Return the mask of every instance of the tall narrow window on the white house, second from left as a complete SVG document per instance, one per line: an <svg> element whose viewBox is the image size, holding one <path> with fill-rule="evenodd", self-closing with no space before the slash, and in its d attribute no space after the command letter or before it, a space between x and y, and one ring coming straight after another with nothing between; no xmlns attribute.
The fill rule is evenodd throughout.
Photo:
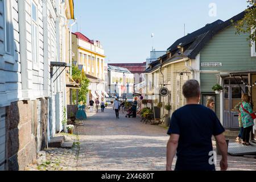
<svg viewBox="0 0 256 182"><path fill-rule="evenodd" d="M32 1L31 3L32 18L32 59L34 63L38 63L38 7Z"/></svg>

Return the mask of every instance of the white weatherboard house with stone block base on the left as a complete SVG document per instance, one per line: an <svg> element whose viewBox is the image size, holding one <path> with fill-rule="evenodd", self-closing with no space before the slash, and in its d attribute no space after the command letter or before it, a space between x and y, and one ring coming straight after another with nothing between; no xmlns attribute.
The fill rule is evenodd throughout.
<svg viewBox="0 0 256 182"><path fill-rule="evenodd" d="M50 78L50 66L65 62L67 3L73 9L73 1L0 0L0 170L24 169L63 130L64 73L53 82L61 69Z"/></svg>

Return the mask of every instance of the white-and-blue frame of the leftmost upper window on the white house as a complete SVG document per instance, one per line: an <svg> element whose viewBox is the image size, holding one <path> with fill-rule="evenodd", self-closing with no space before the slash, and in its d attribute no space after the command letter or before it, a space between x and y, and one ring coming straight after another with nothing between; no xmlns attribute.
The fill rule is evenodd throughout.
<svg viewBox="0 0 256 182"><path fill-rule="evenodd" d="M9 0L3 0L3 11L4 11L4 28L5 28L5 52L3 55L3 59L7 63L14 64L15 63L15 47L14 47L14 30L13 30L13 5ZM9 37L7 37L7 22L9 23ZM7 42L10 43L10 52L7 52Z"/></svg>

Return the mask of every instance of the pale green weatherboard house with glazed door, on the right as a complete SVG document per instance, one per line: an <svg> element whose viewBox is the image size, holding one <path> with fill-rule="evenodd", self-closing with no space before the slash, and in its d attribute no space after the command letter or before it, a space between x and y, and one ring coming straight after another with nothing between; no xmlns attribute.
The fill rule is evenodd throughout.
<svg viewBox="0 0 256 182"><path fill-rule="evenodd" d="M241 101L242 93L249 93L256 110L256 52L249 34L236 34L231 20L236 22L242 12L220 24L212 32L210 40L200 51L201 102L208 98L216 101L216 113L226 129L238 129L238 112L234 107ZM214 93L213 85L220 84L223 90Z"/></svg>

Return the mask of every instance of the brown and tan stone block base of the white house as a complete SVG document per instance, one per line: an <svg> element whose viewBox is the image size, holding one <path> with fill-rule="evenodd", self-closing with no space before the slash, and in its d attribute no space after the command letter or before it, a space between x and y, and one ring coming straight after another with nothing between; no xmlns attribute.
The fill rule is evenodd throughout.
<svg viewBox="0 0 256 182"><path fill-rule="evenodd" d="M6 157L9 171L23 170L27 164L34 163L38 148L42 150L46 147L48 101L45 98L40 101L39 114L36 107L38 100L13 102L6 107Z"/></svg>

